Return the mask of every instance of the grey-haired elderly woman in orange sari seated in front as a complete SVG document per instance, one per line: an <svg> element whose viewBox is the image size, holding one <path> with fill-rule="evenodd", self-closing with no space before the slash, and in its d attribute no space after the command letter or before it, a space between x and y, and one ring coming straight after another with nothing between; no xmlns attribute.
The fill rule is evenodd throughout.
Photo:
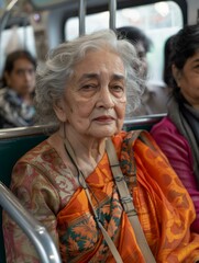
<svg viewBox="0 0 199 263"><path fill-rule="evenodd" d="M63 262L199 261L187 191L147 133L121 132L137 70L133 46L102 31L62 44L37 72L40 117L58 130L18 161L11 188ZM38 262L5 214L3 232L8 263Z"/></svg>

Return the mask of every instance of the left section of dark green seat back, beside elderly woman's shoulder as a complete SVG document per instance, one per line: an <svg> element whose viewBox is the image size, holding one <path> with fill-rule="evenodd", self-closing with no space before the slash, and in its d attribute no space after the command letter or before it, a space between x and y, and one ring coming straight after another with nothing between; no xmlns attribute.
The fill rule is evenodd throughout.
<svg viewBox="0 0 199 263"><path fill-rule="evenodd" d="M0 132L0 181L5 186L10 185L11 171L18 159L46 137L41 127L2 129ZM1 207L0 226L0 263L5 263Z"/></svg>

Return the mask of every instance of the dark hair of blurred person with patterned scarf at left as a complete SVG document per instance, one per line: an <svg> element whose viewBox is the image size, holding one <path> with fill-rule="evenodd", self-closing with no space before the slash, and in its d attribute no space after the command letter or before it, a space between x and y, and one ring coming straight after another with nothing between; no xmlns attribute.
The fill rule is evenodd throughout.
<svg viewBox="0 0 199 263"><path fill-rule="evenodd" d="M14 62L20 58L29 60L34 66L34 69L36 69L36 59L31 55L30 52L19 49L10 53L5 58L4 68L2 71L2 87L7 85L4 73L11 73L14 68Z"/></svg>

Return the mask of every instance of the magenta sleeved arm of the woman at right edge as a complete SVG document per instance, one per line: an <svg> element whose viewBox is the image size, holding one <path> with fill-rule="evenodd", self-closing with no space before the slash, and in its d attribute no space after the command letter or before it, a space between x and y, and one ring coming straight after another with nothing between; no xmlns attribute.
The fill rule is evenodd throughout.
<svg viewBox="0 0 199 263"><path fill-rule="evenodd" d="M191 149L176 128L157 125L152 128L151 134L191 196L197 214L191 227L199 232L199 187L192 171Z"/></svg>

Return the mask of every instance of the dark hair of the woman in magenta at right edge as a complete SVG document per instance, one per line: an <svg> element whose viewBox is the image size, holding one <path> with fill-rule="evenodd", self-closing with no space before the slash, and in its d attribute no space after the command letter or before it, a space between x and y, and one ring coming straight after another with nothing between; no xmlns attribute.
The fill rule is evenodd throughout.
<svg viewBox="0 0 199 263"><path fill-rule="evenodd" d="M174 37L172 43L170 62L183 70L186 61L199 52L199 24L185 25ZM179 88L172 76L170 87L173 95L179 101Z"/></svg>

